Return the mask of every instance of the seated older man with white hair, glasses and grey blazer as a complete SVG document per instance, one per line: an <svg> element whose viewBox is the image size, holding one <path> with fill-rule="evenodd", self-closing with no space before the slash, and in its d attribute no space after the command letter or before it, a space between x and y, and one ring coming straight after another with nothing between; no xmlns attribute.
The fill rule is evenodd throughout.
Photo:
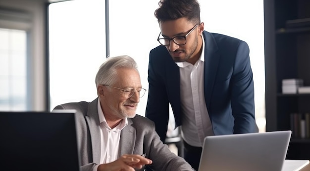
<svg viewBox="0 0 310 171"><path fill-rule="evenodd" d="M155 132L155 124L136 115L142 88L136 62L129 56L108 58L96 75L98 98L65 103L75 109L82 171L192 171ZM142 156L146 154L146 156Z"/></svg>

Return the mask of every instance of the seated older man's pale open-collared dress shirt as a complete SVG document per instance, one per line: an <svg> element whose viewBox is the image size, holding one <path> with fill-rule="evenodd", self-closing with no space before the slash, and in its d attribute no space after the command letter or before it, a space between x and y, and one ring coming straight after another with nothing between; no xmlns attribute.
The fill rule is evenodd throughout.
<svg viewBox="0 0 310 171"><path fill-rule="evenodd" d="M119 140L120 133L126 125L128 125L127 118L123 119L115 128L111 129L105 120L103 111L100 105L100 99L98 99L98 115L101 129L101 157L100 164L110 163L118 159L119 156ZM98 165L93 171L97 171Z"/></svg>

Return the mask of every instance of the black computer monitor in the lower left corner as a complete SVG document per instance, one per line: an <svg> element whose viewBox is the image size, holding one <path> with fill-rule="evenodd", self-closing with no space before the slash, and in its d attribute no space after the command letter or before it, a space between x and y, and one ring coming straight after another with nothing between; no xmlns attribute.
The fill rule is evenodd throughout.
<svg viewBox="0 0 310 171"><path fill-rule="evenodd" d="M79 168L74 112L0 111L0 170Z"/></svg>

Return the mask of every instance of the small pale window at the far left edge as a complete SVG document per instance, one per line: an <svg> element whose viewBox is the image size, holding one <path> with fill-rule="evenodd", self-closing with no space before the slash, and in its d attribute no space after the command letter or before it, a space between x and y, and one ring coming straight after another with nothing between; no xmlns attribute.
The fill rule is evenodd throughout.
<svg viewBox="0 0 310 171"><path fill-rule="evenodd" d="M27 33L0 29L0 110L27 109Z"/></svg>

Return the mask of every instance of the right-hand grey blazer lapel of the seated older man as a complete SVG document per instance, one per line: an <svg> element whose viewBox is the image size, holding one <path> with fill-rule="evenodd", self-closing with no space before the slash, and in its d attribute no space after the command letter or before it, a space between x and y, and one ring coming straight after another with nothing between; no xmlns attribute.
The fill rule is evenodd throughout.
<svg viewBox="0 0 310 171"><path fill-rule="evenodd" d="M128 125L120 133L120 155L134 152L136 129L131 125L132 120L128 118Z"/></svg>

